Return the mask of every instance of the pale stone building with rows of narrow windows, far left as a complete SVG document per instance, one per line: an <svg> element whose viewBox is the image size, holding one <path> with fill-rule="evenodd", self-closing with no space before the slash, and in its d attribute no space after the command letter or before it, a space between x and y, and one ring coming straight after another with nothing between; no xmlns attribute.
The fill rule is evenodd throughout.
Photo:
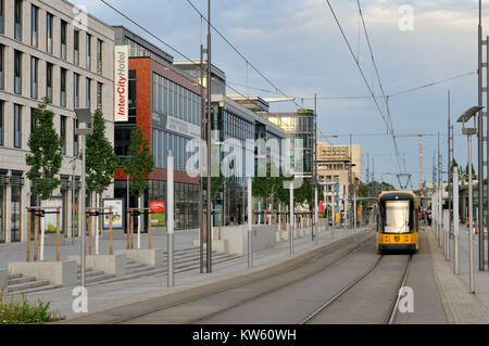
<svg viewBox="0 0 489 346"><path fill-rule="evenodd" d="M64 140L62 182L54 192L62 203L61 231L78 234L71 217L72 180L80 176L74 108L101 108L113 141L113 49L112 28L67 1L0 0L0 243L27 238L26 207L37 197L25 156L33 110L43 97L52 100ZM74 210L77 201L76 189Z"/></svg>

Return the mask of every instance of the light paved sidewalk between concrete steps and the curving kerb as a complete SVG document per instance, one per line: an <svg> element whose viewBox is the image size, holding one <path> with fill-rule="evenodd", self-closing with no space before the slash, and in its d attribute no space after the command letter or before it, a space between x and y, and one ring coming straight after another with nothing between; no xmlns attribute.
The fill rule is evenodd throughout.
<svg viewBox="0 0 489 346"><path fill-rule="evenodd" d="M366 228L358 228L355 233L362 232ZM335 241L353 233L353 230L335 229ZM311 241L310 234L302 239L296 239L293 257L329 244L333 238L329 230L319 233L319 245L315 245L315 242ZM269 249L253 254L253 268L251 269L248 268L248 259L247 256L244 256L236 260L213 266L213 272L209 274L201 274L199 269L176 273L174 287L167 287L167 279L164 274L88 286L88 312L99 312L110 308L145 302L153 297L197 287L230 277L242 275L290 258L289 242L283 241ZM27 297L29 299L39 298L43 302L50 302L52 309L58 310L61 315L70 319L80 317L80 315L76 315L72 310L74 299L72 290L72 287L65 287L45 291L41 293L27 294Z"/></svg>

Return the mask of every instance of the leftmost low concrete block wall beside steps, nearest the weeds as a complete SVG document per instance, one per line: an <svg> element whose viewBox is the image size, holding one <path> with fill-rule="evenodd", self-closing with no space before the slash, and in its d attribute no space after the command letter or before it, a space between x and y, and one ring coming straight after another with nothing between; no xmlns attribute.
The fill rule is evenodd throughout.
<svg viewBox="0 0 489 346"><path fill-rule="evenodd" d="M48 280L51 284L62 286L76 284L75 260L10 262L9 272L36 280Z"/></svg>

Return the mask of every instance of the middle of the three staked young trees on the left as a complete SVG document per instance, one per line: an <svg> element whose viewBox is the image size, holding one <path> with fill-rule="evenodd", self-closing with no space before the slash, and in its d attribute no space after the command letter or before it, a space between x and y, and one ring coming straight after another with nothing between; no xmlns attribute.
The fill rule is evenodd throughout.
<svg viewBox="0 0 489 346"><path fill-rule="evenodd" d="M93 114L93 133L87 136L86 166L88 191L96 192L99 206L102 205L102 193L112 183L118 156L105 138L105 121L103 114L97 110Z"/></svg>

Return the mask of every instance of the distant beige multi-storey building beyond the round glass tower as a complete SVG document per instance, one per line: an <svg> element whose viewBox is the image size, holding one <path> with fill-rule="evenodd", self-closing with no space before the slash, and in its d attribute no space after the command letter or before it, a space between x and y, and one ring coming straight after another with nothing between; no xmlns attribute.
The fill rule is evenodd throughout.
<svg viewBox="0 0 489 346"><path fill-rule="evenodd" d="M359 144L331 145L327 142L316 144L317 182L323 187L327 205L331 204L335 195L336 213L340 213L341 216L344 216L346 209L348 210L344 200L348 200L349 189L352 189L352 195L354 193L358 195L362 171L360 150Z"/></svg>

